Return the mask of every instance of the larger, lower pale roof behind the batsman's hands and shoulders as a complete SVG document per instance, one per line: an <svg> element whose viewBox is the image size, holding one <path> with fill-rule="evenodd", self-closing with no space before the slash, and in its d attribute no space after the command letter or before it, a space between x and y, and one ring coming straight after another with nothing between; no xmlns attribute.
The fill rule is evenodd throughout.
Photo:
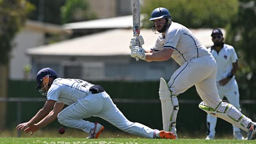
<svg viewBox="0 0 256 144"><path fill-rule="evenodd" d="M198 39L206 46L213 45L211 41L212 29L191 29ZM224 35L225 31L222 29ZM158 35L152 30L141 29L145 44L143 48L149 50ZM56 42L53 44L28 48L28 55L70 55L70 56L110 56L130 55L130 39L133 37L132 29L115 29L94 33L74 39Z"/></svg>

